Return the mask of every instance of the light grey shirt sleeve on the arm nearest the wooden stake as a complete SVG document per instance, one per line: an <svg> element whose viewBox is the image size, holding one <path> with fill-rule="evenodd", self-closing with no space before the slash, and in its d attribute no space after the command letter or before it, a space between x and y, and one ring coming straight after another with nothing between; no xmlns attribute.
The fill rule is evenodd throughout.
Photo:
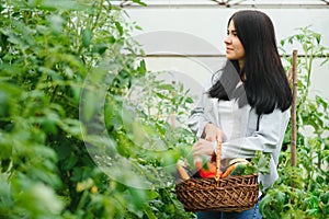
<svg viewBox="0 0 329 219"><path fill-rule="evenodd" d="M290 119L290 111L276 108L259 118L259 129L245 138L222 145L222 158L252 158L256 151L277 154ZM280 147L280 148L279 148ZM277 158L274 158L277 160Z"/></svg>

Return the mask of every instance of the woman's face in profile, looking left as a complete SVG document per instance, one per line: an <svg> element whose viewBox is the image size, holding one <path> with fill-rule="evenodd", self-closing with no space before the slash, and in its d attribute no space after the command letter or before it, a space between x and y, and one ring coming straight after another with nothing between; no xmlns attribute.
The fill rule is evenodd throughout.
<svg viewBox="0 0 329 219"><path fill-rule="evenodd" d="M238 60L241 68L245 60L245 48L237 36L232 20L229 22L227 37L225 38L224 43L226 45L226 58L229 60Z"/></svg>

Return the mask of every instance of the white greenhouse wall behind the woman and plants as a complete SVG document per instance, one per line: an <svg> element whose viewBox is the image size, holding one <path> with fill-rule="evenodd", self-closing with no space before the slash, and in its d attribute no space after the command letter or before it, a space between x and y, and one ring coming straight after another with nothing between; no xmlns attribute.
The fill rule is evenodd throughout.
<svg viewBox="0 0 329 219"><path fill-rule="evenodd" d="M229 16L238 10L253 9L265 12L273 21L277 44L298 33L298 27L310 26L321 34L321 44L329 47L329 7L239 7L214 5L127 7L128 19L141 31L134 32L146 51L150 71L166 71L168 80L179 80L191 89L200 91L203 81L223 65L225 60L224 38ZM287 55L297 45L285 47ZM282 54L282 53L281 53ZM321 95L329 100L329 62L320 65L325 57L315 59L309 96Z"/></svg>

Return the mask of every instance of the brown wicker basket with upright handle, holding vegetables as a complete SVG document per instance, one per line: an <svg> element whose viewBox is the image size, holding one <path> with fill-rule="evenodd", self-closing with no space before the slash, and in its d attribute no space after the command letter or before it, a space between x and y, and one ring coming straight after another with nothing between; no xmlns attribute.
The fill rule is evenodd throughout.
<svg viewBox="0 0 329 219"><path fill-rule="evenodd" d="M189 178L175 186L178 199L186 211L242 211L258 201L258 175L219 177L222 142L217 143L216 176Z"/></svg>

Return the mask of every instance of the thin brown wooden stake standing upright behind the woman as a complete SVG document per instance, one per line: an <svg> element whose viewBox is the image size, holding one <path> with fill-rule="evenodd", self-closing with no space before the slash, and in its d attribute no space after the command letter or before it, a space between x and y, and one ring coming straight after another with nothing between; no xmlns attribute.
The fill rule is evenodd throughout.
<svg viewBox="0 0 329 219"><path fill-rule="evenodd" d="M292 103L292 166L296 166L296 99L297 99L297 50L293 50L293 103Z"/></svg>

